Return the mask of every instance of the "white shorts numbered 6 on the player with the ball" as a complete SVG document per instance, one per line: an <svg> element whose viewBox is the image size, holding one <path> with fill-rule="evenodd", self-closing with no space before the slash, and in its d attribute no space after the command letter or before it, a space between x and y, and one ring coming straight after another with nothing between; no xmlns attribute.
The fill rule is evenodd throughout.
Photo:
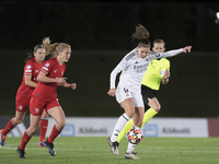
<svg viewBox="0 0 219 164"><path fill-rule="evenodd" d="M134 99L135 107L145 107L140 89L118 85L116 89L116 101L120 104L127 98Z"/></svg>

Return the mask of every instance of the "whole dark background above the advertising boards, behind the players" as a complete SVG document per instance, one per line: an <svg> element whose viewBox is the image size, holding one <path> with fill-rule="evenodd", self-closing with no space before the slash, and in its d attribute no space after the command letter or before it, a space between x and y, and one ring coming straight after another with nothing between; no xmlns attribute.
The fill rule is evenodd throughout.
<svg viewBox="0 0 219 164"><path fill-rule="evenodd" d="M170 58L170 83L161 86L158 117L218 117L219 24L214 1L1 1L0 115L14 115L26 52L42 39L72 47L65 77L78 89L58 87L67 116L118 116L107 96L111 71L137 46L130 36L145 25L149 39L162 38L166 50L193 46L192 54Z"/></svg>

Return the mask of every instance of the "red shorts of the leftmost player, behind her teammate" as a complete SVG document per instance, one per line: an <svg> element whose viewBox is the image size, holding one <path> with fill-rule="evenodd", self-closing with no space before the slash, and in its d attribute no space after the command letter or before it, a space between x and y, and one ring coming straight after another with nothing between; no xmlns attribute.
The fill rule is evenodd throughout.
<svg viewBox="0 0 219 164"><path fill-rule="evenodd" d="M30 105L31 97L16 95L16 112L25 113Z"/></svg>

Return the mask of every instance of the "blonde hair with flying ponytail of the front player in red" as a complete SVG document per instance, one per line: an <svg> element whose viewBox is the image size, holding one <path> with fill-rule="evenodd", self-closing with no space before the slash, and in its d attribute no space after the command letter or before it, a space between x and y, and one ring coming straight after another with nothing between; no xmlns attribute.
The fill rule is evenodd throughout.
<svg viewBox="0 0 219 164"><path fill-rule="evenodd" d="M64 51L65 48L71 48L70 45L65 43L54 43L50 44L49 37L45 37L43 39L43 47L46 49L45 55L53 55L55 57L58 56L58 51Z"/></svg>

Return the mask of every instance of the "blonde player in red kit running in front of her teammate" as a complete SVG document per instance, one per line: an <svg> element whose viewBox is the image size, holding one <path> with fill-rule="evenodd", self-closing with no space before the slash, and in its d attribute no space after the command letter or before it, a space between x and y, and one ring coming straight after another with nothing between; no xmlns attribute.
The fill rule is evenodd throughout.
<svg viewBox="0 0 219 164"><path fill-rule="evenodd" d="M43 40L43 46L46 49L46 55L53 54L55 57L47 60L38 73L37 80L39 83L30 103L31 125L24 132L21 144L16 149L20 159L25 159L25 145L38 129L44 109L56 120L49 138L45 141L50 155L56 155L53 142L66 125L66 116L57 98L57 85L72 90L76 90L77 86L76 83L67 83L66 78L62 78L66 70L65 62L68 62L71 56L71 47L65 43L50 44L48 37Z"/></svg>

